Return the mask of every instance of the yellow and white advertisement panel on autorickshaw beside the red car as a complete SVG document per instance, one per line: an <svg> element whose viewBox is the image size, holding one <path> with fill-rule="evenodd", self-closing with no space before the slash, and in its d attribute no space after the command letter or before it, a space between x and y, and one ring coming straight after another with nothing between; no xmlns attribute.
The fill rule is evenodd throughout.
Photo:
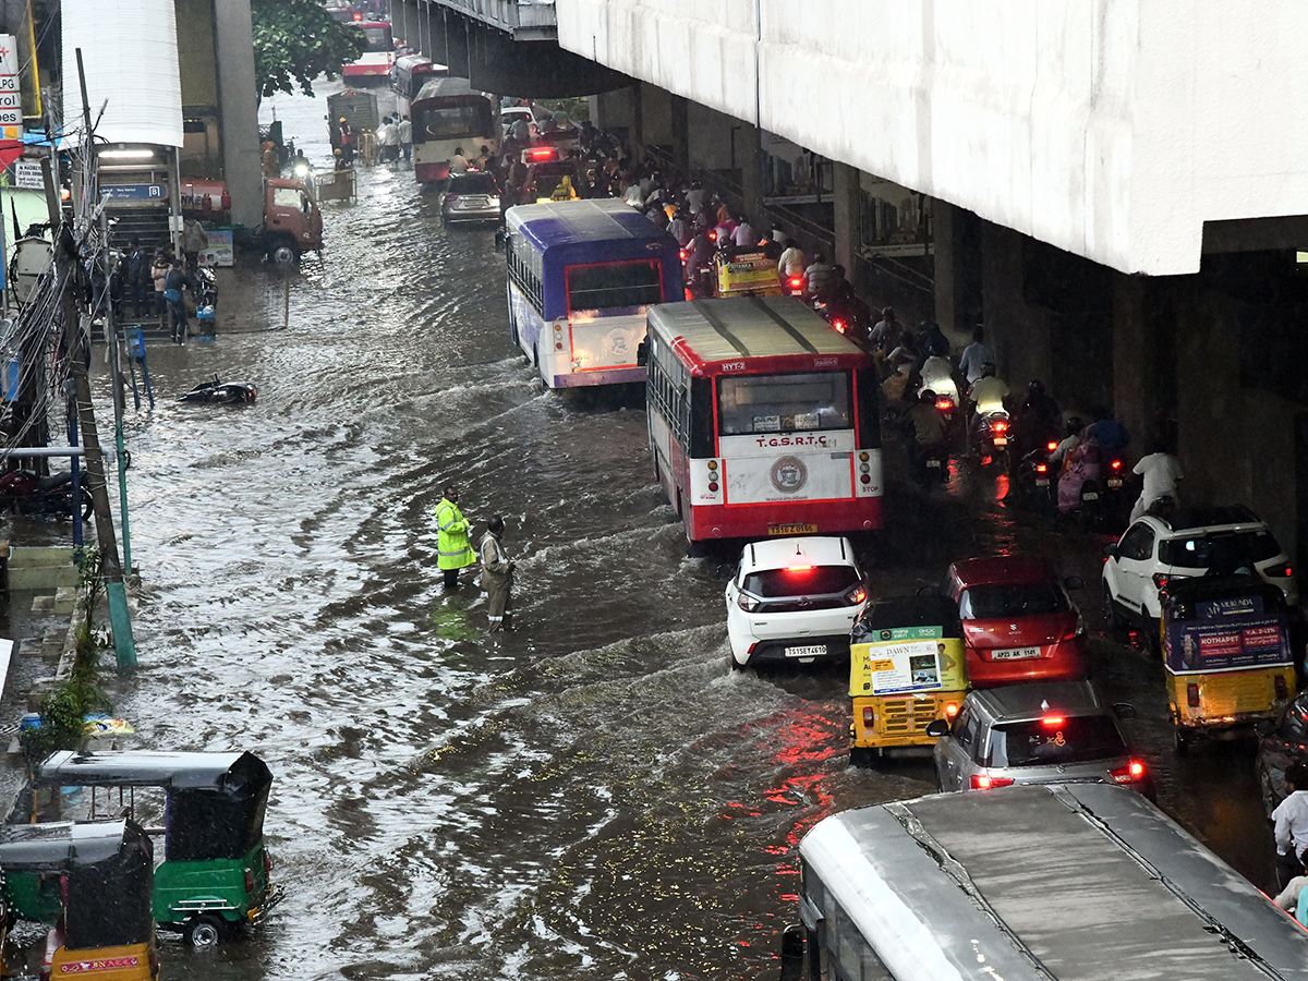
<svg viewBox="0 0 1308 981"><path fill-rule="evenodd" d="M939 627L896 627L872 636L871 644L852 647L852 696L967 688L961 638L946 637Z"/></svg>

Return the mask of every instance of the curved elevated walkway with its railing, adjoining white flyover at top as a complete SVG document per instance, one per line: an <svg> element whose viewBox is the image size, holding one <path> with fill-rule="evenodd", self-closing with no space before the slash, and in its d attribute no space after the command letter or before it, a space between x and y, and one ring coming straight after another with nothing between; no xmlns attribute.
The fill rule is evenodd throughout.
<svg viewBox="0 0 1308 981"><path fill-rule="evenodd" d="M392 0L391 20L405 44L483 92L561 98L630 84L559 47L555 0Z"/></svg>

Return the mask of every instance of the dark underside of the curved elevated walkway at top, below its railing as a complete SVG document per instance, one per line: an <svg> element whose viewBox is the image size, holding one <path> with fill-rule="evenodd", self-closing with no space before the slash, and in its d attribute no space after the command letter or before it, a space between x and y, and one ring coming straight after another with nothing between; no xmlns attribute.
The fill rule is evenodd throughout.
<svg viewBox="0 0 1308 981"><path fill-rule="evenodd" d="M590 95L630 85L620 72L564 51L555 41L515 41L506 31L449 8L396 0L395 34L473 89L523 98Z"/></svg>

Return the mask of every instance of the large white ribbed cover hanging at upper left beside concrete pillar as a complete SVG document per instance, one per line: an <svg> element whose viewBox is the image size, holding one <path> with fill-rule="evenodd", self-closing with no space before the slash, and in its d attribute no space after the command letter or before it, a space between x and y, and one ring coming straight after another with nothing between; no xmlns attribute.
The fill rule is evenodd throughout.
<svg viewBox="0 0 1308 981"><path fill-rule="evenodd" d="M64 120L82 122L77 48L90 118L109 101L97 135L107 143L182 145L182 76L174 0L63 0Z"/></svg>

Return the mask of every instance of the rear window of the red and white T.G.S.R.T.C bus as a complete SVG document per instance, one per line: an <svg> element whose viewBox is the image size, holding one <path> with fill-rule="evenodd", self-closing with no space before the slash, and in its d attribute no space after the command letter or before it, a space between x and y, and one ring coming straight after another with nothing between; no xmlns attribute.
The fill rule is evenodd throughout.
<svg viewBox="0 0 1308 981"><path fill-rule="evenodd" d="M721 436L853 428L849 371L753 374L718 379Z"/></svg>

